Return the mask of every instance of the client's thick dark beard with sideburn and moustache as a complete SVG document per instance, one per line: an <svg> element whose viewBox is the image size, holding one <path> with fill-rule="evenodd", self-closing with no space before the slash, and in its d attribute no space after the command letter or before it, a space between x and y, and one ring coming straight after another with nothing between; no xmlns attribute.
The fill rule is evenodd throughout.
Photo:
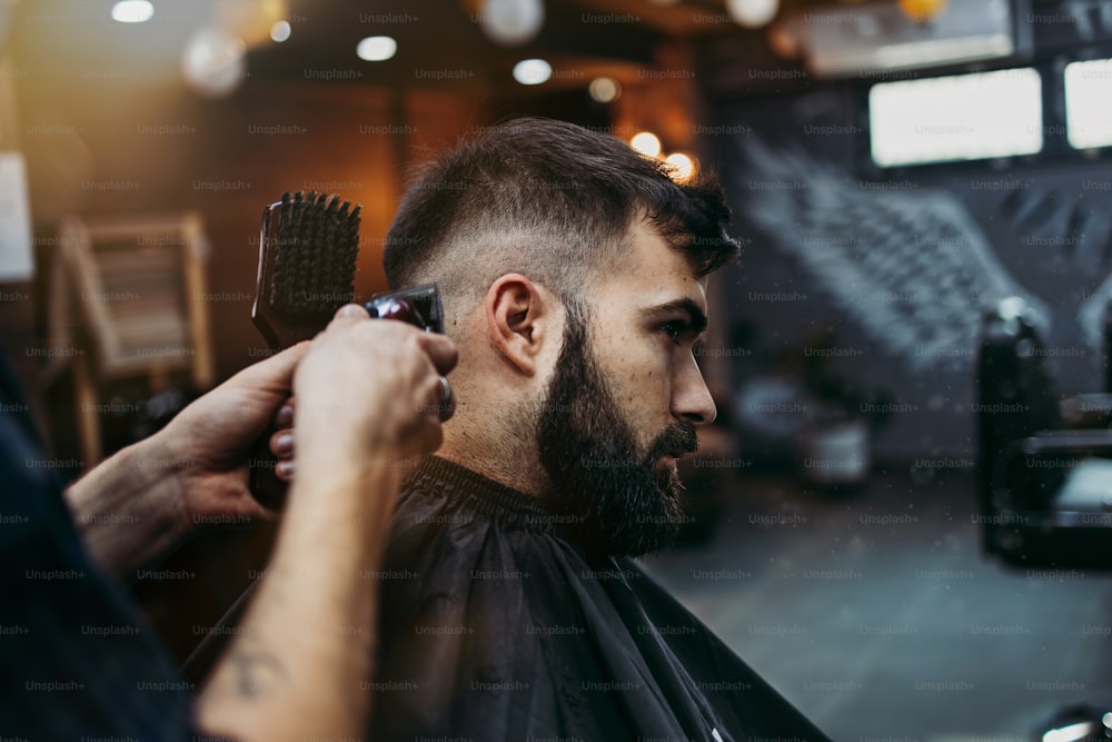
<svg viewBox="0 0 1112 742"><path fill-rule="evenodd" d="M546 498L575 516L588 551L637 556L672 544L683 517L683 485L661 457L694 452L695 425L669 425L644 454L590 354L587 324L570 304L556 370L537 421Z"/></svg>

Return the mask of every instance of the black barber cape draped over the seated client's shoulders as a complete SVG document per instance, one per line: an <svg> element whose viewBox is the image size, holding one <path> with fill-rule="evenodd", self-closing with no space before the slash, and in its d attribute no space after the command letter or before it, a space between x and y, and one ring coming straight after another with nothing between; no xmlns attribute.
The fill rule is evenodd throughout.
<svg viewBox="0 0 1112 742"><path fill-rule="evenodd" d="M635 562L545 503L428 457L380 575L371 739L827 738Z"/></svg>

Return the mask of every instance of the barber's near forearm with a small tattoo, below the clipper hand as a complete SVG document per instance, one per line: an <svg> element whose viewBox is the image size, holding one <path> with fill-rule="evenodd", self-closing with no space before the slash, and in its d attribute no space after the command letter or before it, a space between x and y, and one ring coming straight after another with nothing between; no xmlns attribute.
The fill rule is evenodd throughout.
<svg viewBox="0 0 1112 742"><path fill-rule="evenodd" d="M380 567L401 473L331 465L317 476L321 469L310 462L299 466L244 631L199 698L207 733L241 740L364 733L370 693L361 684L373 670L378 610L378 585L365 577Z"/></svg>

